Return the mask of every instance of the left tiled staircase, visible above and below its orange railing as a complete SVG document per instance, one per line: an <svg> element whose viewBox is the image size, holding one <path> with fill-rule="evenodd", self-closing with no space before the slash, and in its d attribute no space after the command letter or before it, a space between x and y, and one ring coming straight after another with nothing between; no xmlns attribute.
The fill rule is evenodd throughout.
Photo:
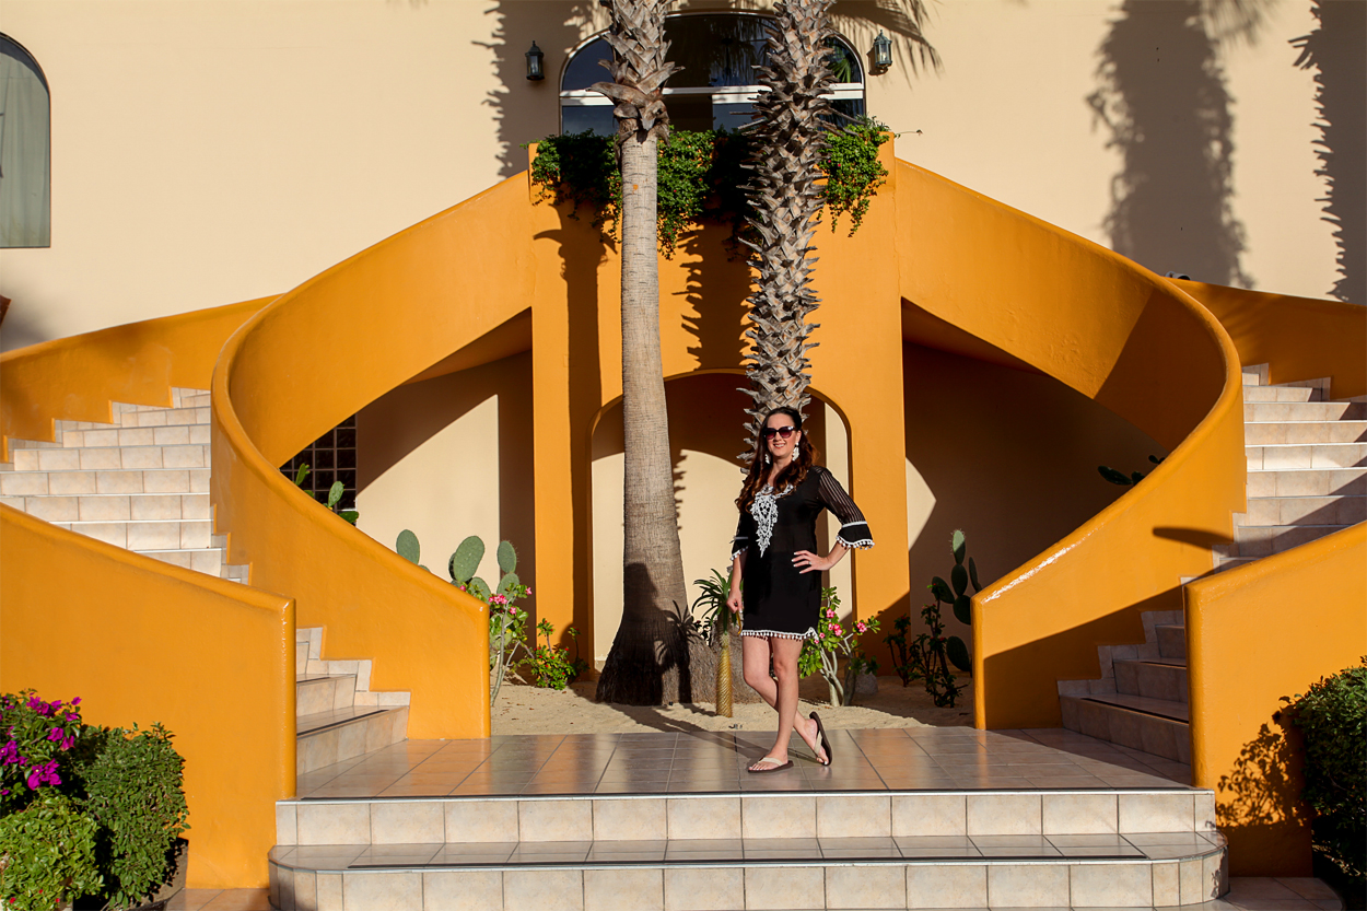
<svg viewBox="0 0 1367 911"><path fill-rule="evenodd" d="M115 423L56 421L56 439L11 439L0 502L167 564L246 583L224 559L209 509L209 394L172 388L171 406L113 402ZM398 743L406 692L370 692L369 661L323 661L321 629L299 629L297 769Z"/></svg>

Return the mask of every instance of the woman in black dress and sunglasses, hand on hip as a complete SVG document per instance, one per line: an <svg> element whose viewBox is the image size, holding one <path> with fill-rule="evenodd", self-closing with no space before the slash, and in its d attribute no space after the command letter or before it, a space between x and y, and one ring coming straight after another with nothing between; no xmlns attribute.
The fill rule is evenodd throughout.
<svg viewBox="0 0 1367 911"><path fill-rule="evenodd" d="M793 408L775 408L764 416L750 472L735 501L741 524L731 544L726 605L731 613L745 610L745 683L778 710L778 739L750 771L790 769L787 741L793 730L819 763L831 765L822 719L815 711L809 718L797 714L797 658L802 643L816 637L822 573L852 547L872 547L874 539L854 501L815 462L816 450L802 442L802 416ZM843 523L826 557L816 553L816 517L823 509ZM778 681L770 677L771 661Z"/></svg>

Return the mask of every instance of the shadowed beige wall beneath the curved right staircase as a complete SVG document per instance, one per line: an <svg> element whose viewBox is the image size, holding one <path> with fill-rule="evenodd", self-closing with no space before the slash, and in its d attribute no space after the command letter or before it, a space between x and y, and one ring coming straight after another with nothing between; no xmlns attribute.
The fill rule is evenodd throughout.
<svg viewBox="0 0 1367 911"><path fill-rule="evenodd" d="M902 371L913 613L934 600L925 591L934 576L949 579L956 528L986 587L1129 490L1103 480L1098 465L1147 473L1150 456L1167 454L1050 376L910 343ZM949 632L968 637L946 620Z"/></svg>

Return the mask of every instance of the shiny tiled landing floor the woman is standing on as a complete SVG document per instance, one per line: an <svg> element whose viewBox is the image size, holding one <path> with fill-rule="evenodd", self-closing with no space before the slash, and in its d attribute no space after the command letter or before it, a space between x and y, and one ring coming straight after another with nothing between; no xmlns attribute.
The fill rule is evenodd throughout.
<svg viewBox="0 0 1367 911"><path fill-rule="evenodd" d="M1069 730L890 728L828 732L819 766L797 736L793 769L749 774L772 732L526 735L406 740L301 774L301 799L491 795L1181 788L1178 763Z"/></svg>

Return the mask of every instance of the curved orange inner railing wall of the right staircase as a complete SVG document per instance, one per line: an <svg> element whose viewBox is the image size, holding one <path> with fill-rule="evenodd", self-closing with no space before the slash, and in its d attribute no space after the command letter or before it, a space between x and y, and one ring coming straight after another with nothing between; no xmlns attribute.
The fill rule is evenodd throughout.
<svg viewBox="0 0 1367 911"><path fill-rule="evenodd" d="M1172 450L973 598L976 724L1058 726L1057 681L1099 677L1096 646L1143 640L1143 610L1178 607L1180 577L1208 569L1244 507L1239 357L1129 260L904 161L897 175L902 297Z"/></svg>

